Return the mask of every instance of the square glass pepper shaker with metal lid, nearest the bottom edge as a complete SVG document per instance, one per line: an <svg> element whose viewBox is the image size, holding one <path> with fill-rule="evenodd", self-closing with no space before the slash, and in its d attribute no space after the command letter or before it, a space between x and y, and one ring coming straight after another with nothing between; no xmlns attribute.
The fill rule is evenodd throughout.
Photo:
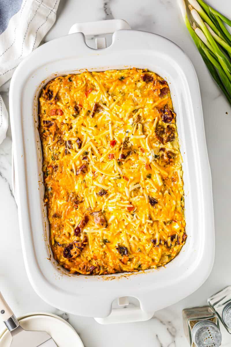
<svg viewBox="0 0 231 347"><path fill-rule="evenodd" d="M217 315L209 306L182 311L184 332L191 347L219 347L221 332Z"/></svg>

